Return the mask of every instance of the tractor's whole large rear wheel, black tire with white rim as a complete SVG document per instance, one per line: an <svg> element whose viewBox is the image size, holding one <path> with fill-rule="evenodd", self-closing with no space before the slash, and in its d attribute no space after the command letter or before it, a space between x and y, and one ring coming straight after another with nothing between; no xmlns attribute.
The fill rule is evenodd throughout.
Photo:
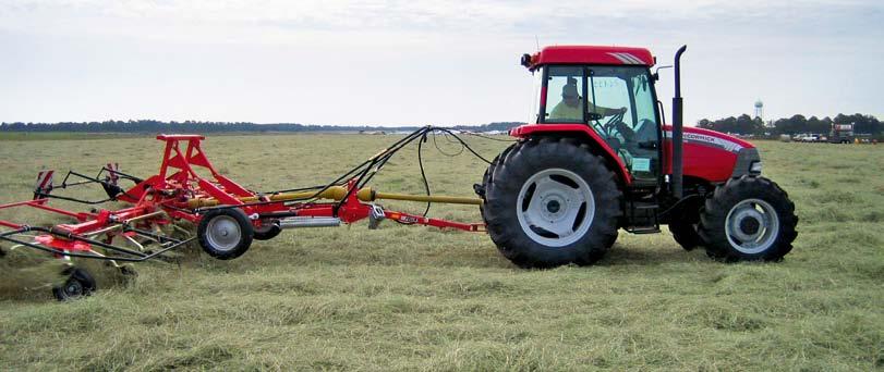
<svg viewBox="0 0 884 372"><path fill-rule="evenodd" d="M500 252L523 268L597 261L617 238L621 193L602 158L570 138L531 138L498 162L483 219Z"/></svg>

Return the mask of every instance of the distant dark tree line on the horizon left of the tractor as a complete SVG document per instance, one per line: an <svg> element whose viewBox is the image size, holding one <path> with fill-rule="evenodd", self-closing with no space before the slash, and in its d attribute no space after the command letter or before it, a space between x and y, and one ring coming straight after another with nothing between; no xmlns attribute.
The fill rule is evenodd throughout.
<svg viewBox="0 0 884 372"><path fill-rule="evenodd" d="M458 125L463 131L507 131L522 123L488 123L479 126ZM422 125L383 126L337 126L296 123L256 124L251 122L162 122L156 120L129 120L104 122L60 122L60 123L0 123L0 132L72 132L72 133L221 133L221 132L358 132L358 131L415 131Z"/></svg>

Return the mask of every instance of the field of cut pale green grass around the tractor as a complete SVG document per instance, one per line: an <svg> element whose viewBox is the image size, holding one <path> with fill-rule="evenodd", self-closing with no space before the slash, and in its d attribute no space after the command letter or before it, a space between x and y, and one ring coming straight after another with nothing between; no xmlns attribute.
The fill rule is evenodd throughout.
<svg viewBox="0 0 884 372"><path fill-rule="evenodd" d="M204 148L233 179L278 189L329 181L392 140L220 136ZM470 141L488 158L506 145ZM138 264L130 283L90 265L99 292L59 303L33 288L47 264L14 251L0 259L0 369L884 369L884 146L759 146L800 218L780 263L723 264L668 233L621 232L596 265L528 271L483 234L363 223L286 231L232 261L191 251L180 264ZM149 137L2 141L0 202L29 198L41 168L92 173L113 160L153 174L160 150ZM374 186L420 194L414 156L403 151ZM426 158L440 194L472 195L485 169L432 146ZM474 208L431 214L480 220Z"/></svg>

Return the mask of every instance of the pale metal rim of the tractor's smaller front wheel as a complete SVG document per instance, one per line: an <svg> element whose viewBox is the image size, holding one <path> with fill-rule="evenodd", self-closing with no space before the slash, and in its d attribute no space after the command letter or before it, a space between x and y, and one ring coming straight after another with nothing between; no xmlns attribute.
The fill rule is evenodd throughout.
<svg viewBox="0 0 884 372"><path fill-rule="evenodd" d="M727 213L725 234L734 249L754 255L771 248L779 233L779 216L771 203L746 199Z"/></svg>

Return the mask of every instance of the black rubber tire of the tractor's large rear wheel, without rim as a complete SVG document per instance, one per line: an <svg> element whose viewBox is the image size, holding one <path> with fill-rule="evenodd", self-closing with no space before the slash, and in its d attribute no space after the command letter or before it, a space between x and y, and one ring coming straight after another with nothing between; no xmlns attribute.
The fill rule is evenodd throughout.
<svg viewBox="0 0 884 372"><path fill-rule="evenodd" d="M573 241L562 246L538 241L532 235L537 236L540 233L533 226L530 232L525 232L520 222L520 214L525 213L520 210L525 200L518 200L523 185L535 175L550 170L564 170L579 176L588 186L595 204L592 220L574 222L580 226L585 222L589 226L583 227L586 228L585 232L573 232L580 235L569 237L568 240ZM570 138L531 138L512 147L499 159L499 164L493 162L485 178L482 216L488 235L500 253L519 266L591 264L601 259L617 239L617 222L622 214L621 193L617 188L614 173L605 166L604 159L592 154L585 145ZM531 189L536 185L526 187ZM580 186L576 189L580 189ZM585 208L588 203L581 204L577 213L585 212Z"/></svg>

